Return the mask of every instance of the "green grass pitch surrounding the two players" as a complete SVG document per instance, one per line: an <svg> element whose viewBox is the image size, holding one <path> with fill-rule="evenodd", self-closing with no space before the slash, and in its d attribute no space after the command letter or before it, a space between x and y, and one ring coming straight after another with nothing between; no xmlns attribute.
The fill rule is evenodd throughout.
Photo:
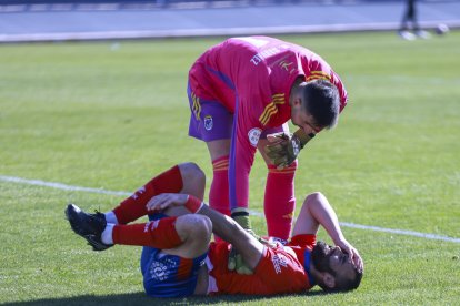
<svg viewBox="0 0 460 306"><path fill-rule="evenodd" d="M323 192L340 221L460 237L460 32L407 42L394 33L284 37L321 54L350 104L300 156L298 208ZM0 175L134 191L172 164L211 176L187 136L187 73L219 39L0 45ZM262 212L266 167L251 173ZM0 180L0 303L454 305L460 244L343 227L366 262L361 287L294 296L152 299L139 247L94 253L63 217L68 202L110 210L123 197ZM264 220L253 217L259 233ZM324 238L324 232L320 233Z"/></svg>

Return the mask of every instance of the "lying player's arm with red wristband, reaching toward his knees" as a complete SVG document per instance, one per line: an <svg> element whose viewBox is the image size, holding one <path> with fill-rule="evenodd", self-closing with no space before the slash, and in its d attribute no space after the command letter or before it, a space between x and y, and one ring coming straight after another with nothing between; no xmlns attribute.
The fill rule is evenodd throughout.
<svg viewBox="0 0 460 306"><path fill-rule="evenodd" d="M191 213L209 217L212 222L212 232L222 239L232 244L241 254L242 259L250 269L258 265L263 245L247 233L234 220L210 208L200 200L187 194L163 193L153 196L147 204L149 211L161 211L174 206L184 206Z"/></svg>

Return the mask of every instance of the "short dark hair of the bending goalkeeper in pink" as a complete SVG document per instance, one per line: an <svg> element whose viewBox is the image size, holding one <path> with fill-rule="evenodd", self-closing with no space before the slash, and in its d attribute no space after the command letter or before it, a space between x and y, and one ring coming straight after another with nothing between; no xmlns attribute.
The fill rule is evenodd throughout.
<svg viewBox="0 0 460 306"><path fill-rule="evenodd" d="M337 125L340 95L331 82L327 80L307 82L307 85L303 86L302 105L320 128L331 129Z"/></svg>

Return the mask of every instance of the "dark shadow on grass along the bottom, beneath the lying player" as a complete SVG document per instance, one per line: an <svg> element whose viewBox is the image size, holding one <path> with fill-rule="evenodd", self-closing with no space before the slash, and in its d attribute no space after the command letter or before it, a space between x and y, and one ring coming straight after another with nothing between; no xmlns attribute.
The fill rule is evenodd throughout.
<svg viewBox="0 0 460 306"><path fill-rule="evenodd" d="M82 295L76 297L62 297L62 298L43 298L30 302L14 302L3 305L203 305L216 303L243 303L250 300L269 300L272 298L282 297L303 297L326 295L322 290L309 292L302 295L276 295L276 296L248 296L248 295L221 295L214 297L188 297L188 298L152 298L148 297L144 293L133 294L120 294L108 296L96 295Z"/></svg>

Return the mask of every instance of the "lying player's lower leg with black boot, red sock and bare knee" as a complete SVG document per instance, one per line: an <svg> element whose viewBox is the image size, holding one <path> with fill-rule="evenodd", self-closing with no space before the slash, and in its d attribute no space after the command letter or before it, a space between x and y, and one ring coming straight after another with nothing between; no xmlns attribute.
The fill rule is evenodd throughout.
<svg viewBox="0 0 460 306"><path fill-rule="evenodd" d="M212 225L206 216L182 213L180 216L161 213L152 215L148 223L121 225L93 218L73 204L66 210L72 230L86 238L94 251L103 251L113 244L138 245L193 258L207 248Z"/></svg>

